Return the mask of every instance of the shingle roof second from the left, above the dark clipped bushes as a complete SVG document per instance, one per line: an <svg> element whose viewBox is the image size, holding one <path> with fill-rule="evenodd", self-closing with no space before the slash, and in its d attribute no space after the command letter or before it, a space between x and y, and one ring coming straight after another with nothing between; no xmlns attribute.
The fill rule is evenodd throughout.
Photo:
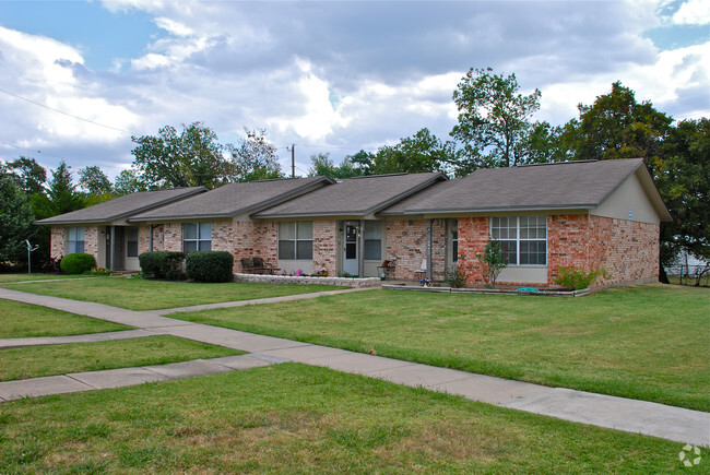
<svg viewBox="0 0 710 475"><path fill-rule="evenodd" d="M199 219L251 213L332 183L326 177L230 183L179 203L132 216L129 221Z"/></svg>

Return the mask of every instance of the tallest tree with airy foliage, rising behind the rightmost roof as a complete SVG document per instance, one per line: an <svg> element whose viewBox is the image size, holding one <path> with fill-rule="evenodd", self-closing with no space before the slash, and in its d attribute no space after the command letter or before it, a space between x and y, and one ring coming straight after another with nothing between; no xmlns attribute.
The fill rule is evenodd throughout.
<svg viewBox="0 0 710 475"><path fill-rule="evenodd" d="M453 92L459 123L451 136L463 144L462 165L469 170L524 163L519 144L540 108L541 93L535 90L525 96L519 90L516 74L472 68Z"/></svg>

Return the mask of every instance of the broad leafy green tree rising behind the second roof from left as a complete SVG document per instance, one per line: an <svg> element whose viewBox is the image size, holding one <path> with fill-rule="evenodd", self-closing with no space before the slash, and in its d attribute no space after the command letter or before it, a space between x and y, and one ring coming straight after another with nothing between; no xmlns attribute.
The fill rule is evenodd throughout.
<svg viewBox="0 0 710 475"><path fill-rule="evenodd" d="M157 136L131 136L138 144L131 153L133 166L149 189L204 186L214 188L234 174L223 156L217 135L201 122L182 126L178 135L171 126L158 129Z"/></svg>

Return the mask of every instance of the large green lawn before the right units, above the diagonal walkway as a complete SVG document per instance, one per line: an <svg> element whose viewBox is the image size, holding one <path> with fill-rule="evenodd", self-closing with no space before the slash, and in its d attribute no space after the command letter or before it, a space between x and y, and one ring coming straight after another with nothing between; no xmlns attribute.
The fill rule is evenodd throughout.
<svg viewBox="0 0 710 475"><path fill-rule="evenodd" d="M707 289L648 285L576 299L370 290L173 317L708 412L709 309Z"/></svg>

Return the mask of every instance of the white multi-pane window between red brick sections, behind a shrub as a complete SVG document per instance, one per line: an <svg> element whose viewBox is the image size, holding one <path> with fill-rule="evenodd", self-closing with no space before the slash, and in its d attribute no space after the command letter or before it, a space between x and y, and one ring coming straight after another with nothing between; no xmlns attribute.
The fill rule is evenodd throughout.
<svg viewBox="0 0 710 475"><path fill-rule="evenodd" d="M547 224L545 216L494 216L490 237L500 241L510 265L547 263Z"/></svg>

